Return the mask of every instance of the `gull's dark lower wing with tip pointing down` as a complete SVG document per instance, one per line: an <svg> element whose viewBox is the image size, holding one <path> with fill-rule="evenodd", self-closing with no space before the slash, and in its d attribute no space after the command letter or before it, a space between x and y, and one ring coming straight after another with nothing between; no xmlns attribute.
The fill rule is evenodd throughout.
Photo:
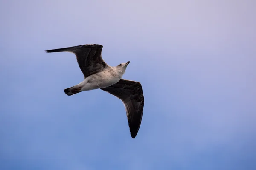
<svg viewBox="0 0 256 170"><path fill-rule="evenodd" d="M140 129L144 107L144 96L140 82L120 79L116 84L101 89L122 100L126 109L131 137L135 138Z"/></svg>

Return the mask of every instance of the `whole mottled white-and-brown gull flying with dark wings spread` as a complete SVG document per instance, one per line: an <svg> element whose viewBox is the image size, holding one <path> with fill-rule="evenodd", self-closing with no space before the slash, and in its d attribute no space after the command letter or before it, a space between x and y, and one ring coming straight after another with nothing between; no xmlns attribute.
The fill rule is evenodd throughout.
<svg viewBox="0 0 256 170"><path fill-rule="evenodd" d="M84 80L73 87L64 89L65 94L71 96L81 91L102 89L122 100L132 138L135 138L143 114L144 96L140 82L122 79L129 61L111 67L101 56L102 45L86 44L67 48L45 50L52 52L71 52L76 55L79 68L84 74Z"/></svg>

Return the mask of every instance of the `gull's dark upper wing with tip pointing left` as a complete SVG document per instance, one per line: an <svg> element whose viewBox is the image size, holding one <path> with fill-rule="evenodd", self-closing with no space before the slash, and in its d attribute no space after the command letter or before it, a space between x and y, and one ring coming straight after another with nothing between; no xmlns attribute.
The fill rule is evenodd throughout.
<svg viewBox="0 0 256 170"><path fill-rule="evenodd" d="M47 53L67 51L76 54L78 65L86 78L108 67L101 56L102 47L98 44L86 44L45 51Z"/></svg>

